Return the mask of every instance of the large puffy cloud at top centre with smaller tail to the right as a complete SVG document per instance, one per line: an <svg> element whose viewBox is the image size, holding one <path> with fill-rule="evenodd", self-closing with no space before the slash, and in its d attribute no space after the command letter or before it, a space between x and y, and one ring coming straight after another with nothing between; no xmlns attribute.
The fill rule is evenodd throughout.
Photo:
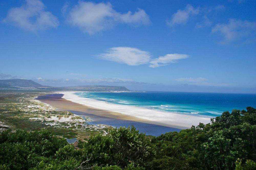
<svg viewBox="0 0 256 170"><path fill-rule="evenodd" d="M125 14L121 14L116 12L110 3L97 4L83 1L79 1L69 11L67 20L71 25L77 26L91 35L110 29L117 23L131 24L133 26L150 23L150 19L143 9L138 8L134 13L128 11Z"/></svg>

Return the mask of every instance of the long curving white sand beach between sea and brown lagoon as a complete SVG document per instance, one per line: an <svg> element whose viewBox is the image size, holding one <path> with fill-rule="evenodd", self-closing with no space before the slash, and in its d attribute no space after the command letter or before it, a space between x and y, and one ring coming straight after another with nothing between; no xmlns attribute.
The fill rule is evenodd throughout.
<svg viewBox="0 0 256 170"><path fill-rule="evenodd" d="M166 113L134 106L113 105L104 101L79 97L73 94L75 93L74 91L57 93L63 94L64 96L62 98L74 103L82 104L95 109L120 113L120 116L127 115L138 119L143 119L145 121L152 122L152 124L166 124L170 127L190 128L192 125L197 126L199 122L204 124L210 122L209 117L183 115L175 112Z"/></svg>

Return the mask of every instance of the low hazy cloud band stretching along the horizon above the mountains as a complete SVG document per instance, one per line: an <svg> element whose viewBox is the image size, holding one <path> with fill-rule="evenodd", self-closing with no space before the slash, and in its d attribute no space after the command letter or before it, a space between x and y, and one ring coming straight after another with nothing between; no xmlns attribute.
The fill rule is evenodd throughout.
<svg viewBox="0 0 256 170"><path fill-rule="evenodd" d="M10 74L3 74L0 73L0 80L6 80L6 79L16 79L19 78L17 76L12 76ZM48 78L22 78L26 80L33 80L36 83L39 83L41 85L48 85L53 87L62 87L62 86L80 86L80 85L110 85L110 86L125 86L128 87L128 89L133 90L146 90L148 87L154 87L156 89L162 89L165 88L163 91L168 91L166 88L168 86L177 87L178 89L184 89L187 87L225 87L225 88L241 88L235 84L232 83L209 83L207 82L206 78L198 77L198 78L177 78L175 81L177 82L184 82L182 84L162 84L162 83L148 83L148 82L137 82L130 79L125 78L109 78L109 77L102 77L102 78L87 78L87 79L81 79L81 78L59 78L59 79L48 79ZM161 87L161 88L159 88ZM142 89L140 89L142 88ZM144 89L145 88L145 89ZM248 88L248 87L247 87ZM149 88L150 89L150 88ZM255 90L255 88L252 88ZM199 90L199 88L198 88ZM150 90L149 90L150 91ZM152 91L152 89L151 89ZM175 90L174 90L175 91ZM177 90L180 91L180 90ZM200 90L199 90L200 92Z"/></svg>

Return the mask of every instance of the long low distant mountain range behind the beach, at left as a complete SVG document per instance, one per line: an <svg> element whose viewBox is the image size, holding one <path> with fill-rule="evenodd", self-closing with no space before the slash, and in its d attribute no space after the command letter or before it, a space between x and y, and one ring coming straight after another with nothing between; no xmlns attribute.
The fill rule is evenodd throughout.
<svg viewBox="0 0 256 170"><path fill-rule="evenodd" d="M44 86L36 83L32 80L25 79L9 79L0 80L0 89L48 89L48 90L77 90L77 91L94 91L94 92L104 92L104 91L130 91L124 86L67 86L67 87L52 87Z"/></svg>

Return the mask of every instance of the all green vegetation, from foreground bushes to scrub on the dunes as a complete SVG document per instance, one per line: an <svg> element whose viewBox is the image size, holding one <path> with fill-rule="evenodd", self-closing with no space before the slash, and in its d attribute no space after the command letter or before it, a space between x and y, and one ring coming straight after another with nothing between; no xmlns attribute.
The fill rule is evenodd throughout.
<svg viewBox="0 0 256 170"><path fill-rule="evenodd" d="M89 135L89 130L78 128L79 118L65 125L74 129L63 124L55 129L46 123L56 123L47 121L49 116L65 118L72 113L53 112L45 105L30 109L36 102L31 96L13 96L1 98L1 126L6 131L0 133L0 169L256 169L256 109L252 107L226 111L211 123L151 139L133 126L106 129L108 135L95 129L75 149L63 138ZM25 101L29 105L24 108L18 104Z"/></svg>

